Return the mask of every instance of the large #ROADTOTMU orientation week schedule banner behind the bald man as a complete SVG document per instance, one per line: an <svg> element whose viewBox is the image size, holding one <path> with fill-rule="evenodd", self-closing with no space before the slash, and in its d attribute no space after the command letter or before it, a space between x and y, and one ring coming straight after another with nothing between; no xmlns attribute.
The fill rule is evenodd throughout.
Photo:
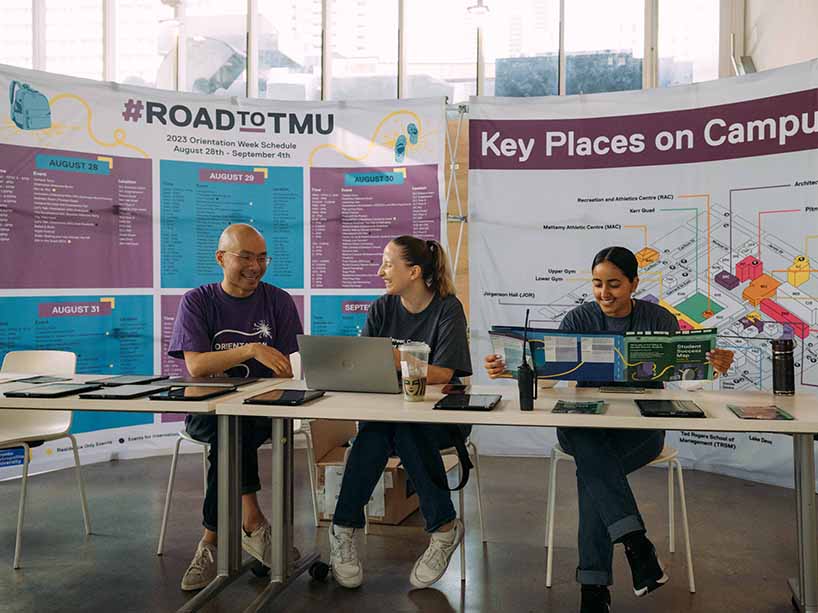
<svg viewBox="0 0 818 613"><path fill-rule="evenodd" d="M230 223L258 228L265 281L305 329L357 334L401 234L445 236L444 100L214 98L0 66L0 359L64 349L78 371L184 373L181 295L221 280ZM81 408L78 406L78 408ZM180 416L74 413L83 461L167 449ZM70 464L67 441L32 470ZM0 452L0 478L20 454Z"/></svg>

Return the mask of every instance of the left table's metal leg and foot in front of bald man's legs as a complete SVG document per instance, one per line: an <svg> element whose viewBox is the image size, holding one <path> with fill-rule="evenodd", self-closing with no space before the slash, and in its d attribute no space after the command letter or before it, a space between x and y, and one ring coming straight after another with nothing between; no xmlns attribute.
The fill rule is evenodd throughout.
<svg viewBox="0 0 818 613"><path fill-rule="evenodd" d="M250 568L241 558L241 418L219 415L219 525L216 578L178 613L198 611Z"/></svg>

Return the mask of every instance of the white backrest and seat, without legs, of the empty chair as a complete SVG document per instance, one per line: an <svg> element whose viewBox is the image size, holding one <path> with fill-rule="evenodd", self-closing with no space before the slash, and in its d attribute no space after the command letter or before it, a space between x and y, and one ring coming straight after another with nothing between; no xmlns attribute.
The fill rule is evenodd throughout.
<svg viewBox="0 0 818 613"><path fill-rule="evenodd" d="M71 351L9 351L3 358L0 372L32 373L39 375L73 376L77 369L77 354ZM71 411L39 411L37 409L0 410L0 443L3 424L15 430L37 432L39 429L65 432L71 427Z"/></svg>

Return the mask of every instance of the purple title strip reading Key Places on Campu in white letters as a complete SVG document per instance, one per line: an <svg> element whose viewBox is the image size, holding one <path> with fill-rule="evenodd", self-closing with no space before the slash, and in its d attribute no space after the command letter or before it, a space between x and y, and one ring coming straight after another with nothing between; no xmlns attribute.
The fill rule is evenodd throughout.
<svg viewBox="0 0 818 613"><path fill-rule="evenodd" d="M818 89L588 119L472 119L471 170L617 168L818 149Z"/></svg>

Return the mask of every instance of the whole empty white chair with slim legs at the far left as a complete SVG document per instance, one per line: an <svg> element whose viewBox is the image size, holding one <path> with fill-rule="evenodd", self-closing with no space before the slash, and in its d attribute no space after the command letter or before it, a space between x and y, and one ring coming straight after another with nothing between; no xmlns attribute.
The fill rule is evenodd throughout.
<svg viewBox="0 0 818 613"><path fill-rule="evenodd" d="M0 372L31 373L36 375L73 376L76 372L77 356L69 351L9 351L3 358ZM31 457L31 445L61 438L71 440L74 450L74 464L77 470L77 483L82 501L82 519L85 523L85 534L91 534L91 521L88 518L88 501L85 497L85 484L82 481L80 456L77 450L77 439L68 433L71 428L72 411L46 411L37 409L4 409L0 410L0 449L23 448L23 481L20 486L20 508L17 512L17 540L14 545L14 568L20 568L22 554L23 516L26 509L26 492L28 491L28 464Z"/></svg>

